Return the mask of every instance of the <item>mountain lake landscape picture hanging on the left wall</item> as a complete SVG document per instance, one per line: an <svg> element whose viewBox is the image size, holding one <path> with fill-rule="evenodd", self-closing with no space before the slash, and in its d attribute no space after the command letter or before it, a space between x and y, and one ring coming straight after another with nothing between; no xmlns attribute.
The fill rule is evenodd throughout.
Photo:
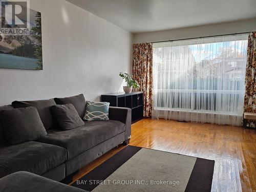
<svg viewBox="0 0 256 192"><path fill-rule="evenodd" d="M3 14L6 5L1 5L0 68L42 70L41 13L20 4L24 14L12 20L7 9ZM13 24L14 20L22 25Z"/></svg>

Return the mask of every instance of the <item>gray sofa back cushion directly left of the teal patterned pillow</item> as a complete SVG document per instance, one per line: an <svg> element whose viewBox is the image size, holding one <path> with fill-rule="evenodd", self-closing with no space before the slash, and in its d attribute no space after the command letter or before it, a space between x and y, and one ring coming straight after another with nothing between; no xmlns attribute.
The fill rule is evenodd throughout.
<svg viewBox="0 0 256 192"><path fill-rule="evenodd" d="M81 118L83 118L84 113L86 112L86 99L84 99L83 94L73 97L54 98L54 100L57 104L73 104Z"/></svg>

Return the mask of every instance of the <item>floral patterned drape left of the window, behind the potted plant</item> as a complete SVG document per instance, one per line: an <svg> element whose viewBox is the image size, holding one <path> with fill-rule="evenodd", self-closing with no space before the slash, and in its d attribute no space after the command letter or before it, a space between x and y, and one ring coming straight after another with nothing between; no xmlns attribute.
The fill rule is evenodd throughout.
<svg viewBox="0 0 256 192"><path fill-rule="evenodd" d="M151 43L133 45L133 77L144 92L144 117L151 117L153 94L153 47Z"/></svg>

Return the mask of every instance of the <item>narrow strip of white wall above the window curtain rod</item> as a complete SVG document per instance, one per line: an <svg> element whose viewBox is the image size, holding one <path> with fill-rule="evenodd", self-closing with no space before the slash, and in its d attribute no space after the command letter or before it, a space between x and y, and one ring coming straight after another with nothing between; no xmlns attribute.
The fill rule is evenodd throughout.
<svg viewBox="0 0 256 192"><path fill-rule="evenodd" d="M211 35L224 35L249 31L256 31L256 18L223 24L205 25L157 32L137 33L134 35L134 43L137 44L140 42L154 42L173 39L204 37Z"/></svg>

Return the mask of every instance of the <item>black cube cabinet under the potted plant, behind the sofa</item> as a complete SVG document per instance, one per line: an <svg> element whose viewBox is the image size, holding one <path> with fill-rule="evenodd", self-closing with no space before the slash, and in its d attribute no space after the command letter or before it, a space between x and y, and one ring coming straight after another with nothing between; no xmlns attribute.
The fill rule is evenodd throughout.
<svg viewBox="0 0 256 192"><path fill-rule="evenodd" d="M132 109L132 123L143 119L143 92L111 93L101 95L102 102L110 102L110 106Z"/></svg>

